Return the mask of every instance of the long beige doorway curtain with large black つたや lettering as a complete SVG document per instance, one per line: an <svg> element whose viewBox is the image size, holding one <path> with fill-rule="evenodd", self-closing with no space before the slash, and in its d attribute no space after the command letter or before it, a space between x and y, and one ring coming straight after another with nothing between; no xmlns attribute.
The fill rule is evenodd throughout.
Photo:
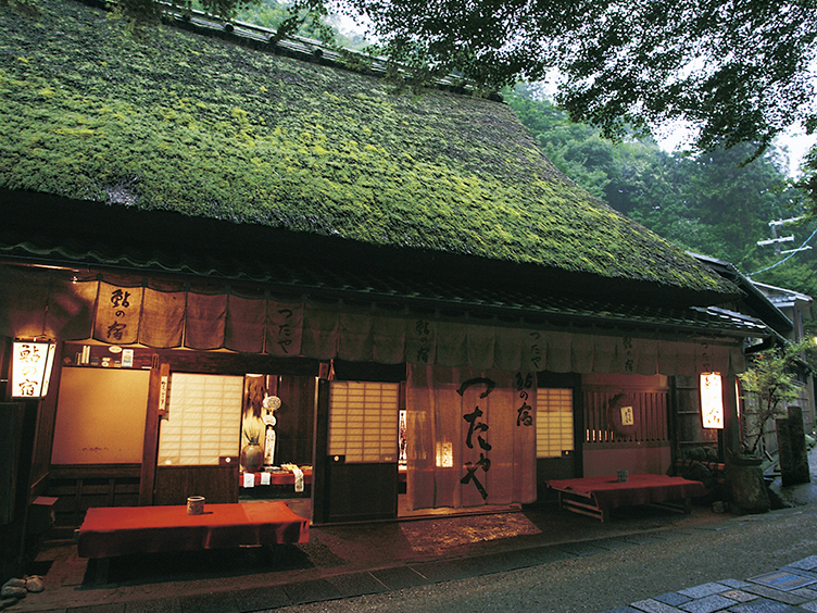
<svg viewBox="0 0 817 613"><path fill-rule="evenodd" d="M535 414L532 373L410 365L410 509L536 500Z"/></svg>

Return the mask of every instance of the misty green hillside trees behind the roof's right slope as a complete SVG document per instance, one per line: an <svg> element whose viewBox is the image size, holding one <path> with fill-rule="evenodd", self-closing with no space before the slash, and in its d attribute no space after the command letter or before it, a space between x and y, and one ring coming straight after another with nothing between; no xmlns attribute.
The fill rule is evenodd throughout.
<svg viewBox="0 0 817 613"><path fill-rule="evenodd" d="M651 139L612 143L587 124L569 122L531 86L505 93L511 108L532 132L542 151L565 174L607 204L679 247L734 263L744 273L782 260L772 246L768 222L801 215L802 197L788 185L778 151L750 164L752 146L697 155L668 154ZM784 226L800 246L814 222ZM755 277L803 293L817 292L817 252L797 253Z"/></svg>

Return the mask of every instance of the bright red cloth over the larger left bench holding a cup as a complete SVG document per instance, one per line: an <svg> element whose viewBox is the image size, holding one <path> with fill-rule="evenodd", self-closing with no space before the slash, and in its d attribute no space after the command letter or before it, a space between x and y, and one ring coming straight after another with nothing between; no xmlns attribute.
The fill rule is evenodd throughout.
<svg viewBox="0 0 817 613"><path fill-rule="evenodd" d="M187 506L88 509L79 528L81 558L194 551L239 546L309 542L309 520L284 502L205 504L203 515Z"/></svg>

